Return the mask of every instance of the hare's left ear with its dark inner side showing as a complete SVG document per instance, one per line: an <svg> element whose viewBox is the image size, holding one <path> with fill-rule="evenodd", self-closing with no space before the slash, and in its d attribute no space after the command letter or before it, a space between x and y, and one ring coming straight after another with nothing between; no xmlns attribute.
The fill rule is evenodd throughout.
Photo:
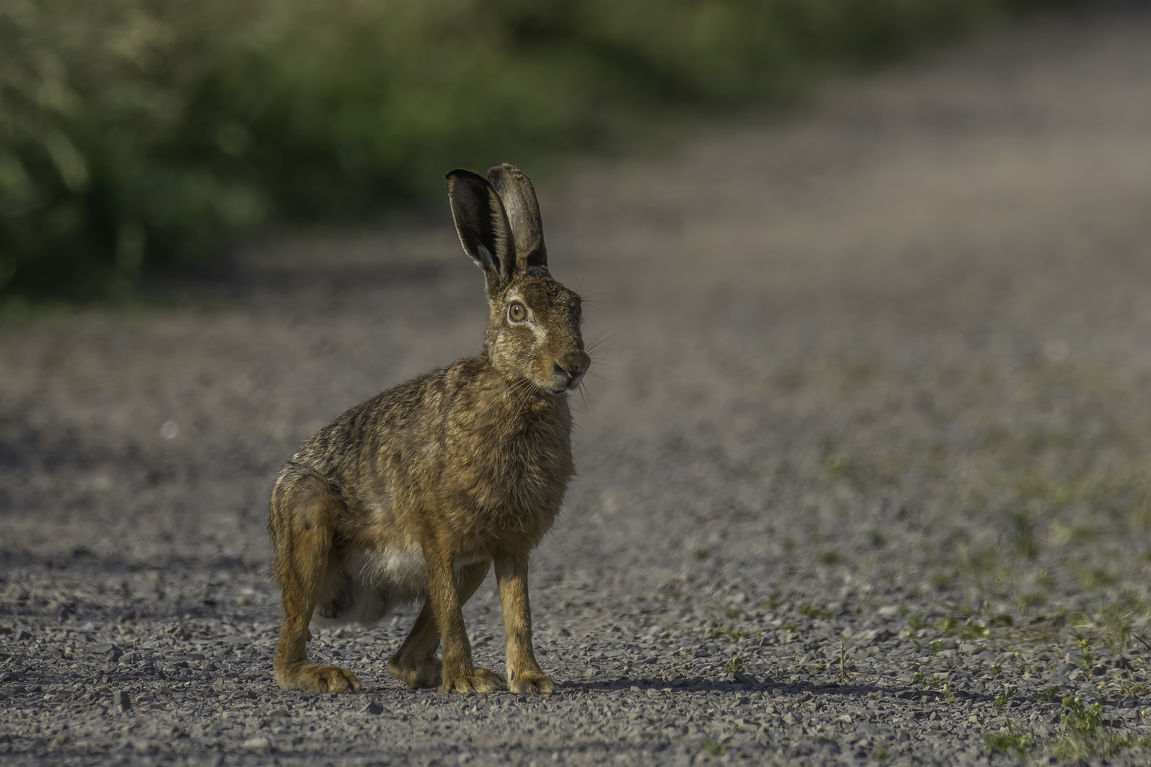
<svg viewBox="0 0 1151 767"><path fill-rule="evenodd" d="M483 176L448 174L448 201L464 253L487 275L489 291L505 285L516 267L516 243L500 194Z"/></svg>

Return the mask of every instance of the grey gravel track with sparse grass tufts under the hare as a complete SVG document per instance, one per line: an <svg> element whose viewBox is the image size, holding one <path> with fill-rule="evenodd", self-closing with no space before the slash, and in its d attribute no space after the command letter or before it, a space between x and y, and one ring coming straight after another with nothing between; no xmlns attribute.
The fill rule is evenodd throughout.
<svg viewBox="0 0 1151 767"><path fill-rule="evenodd" d="M447 225L7 321L3 761L1146 764L1149 93L1151 16L1035 22L542 190L607 338L551 697L402 688L411 608L313 629L363 693L270 676L275 471L480 343ZM501 668L490 580L465 615Z"/></svg>

